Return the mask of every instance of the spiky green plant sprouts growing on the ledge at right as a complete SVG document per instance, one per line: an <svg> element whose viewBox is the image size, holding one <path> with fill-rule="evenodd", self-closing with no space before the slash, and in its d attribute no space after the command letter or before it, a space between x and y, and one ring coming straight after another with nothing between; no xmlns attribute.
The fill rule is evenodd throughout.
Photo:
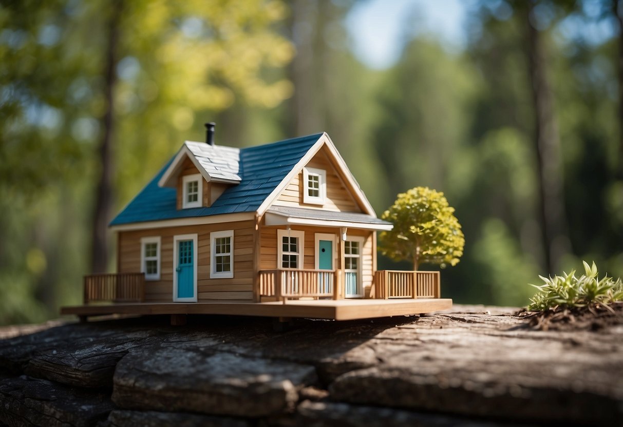
<svg viewBox="0 0 623 427"><path fill-rule="evenodd" d="M562 276L543 277L545 283L541 286L531 284L538 292L530 298L528 310L545 311L557 307L590 307L591 304L601 304L610 309L608 304L623 301L623 281L607 275L599 279L597 266L593 261L589 266L584 263L584 275L576 277L575 270Z"/></svg>

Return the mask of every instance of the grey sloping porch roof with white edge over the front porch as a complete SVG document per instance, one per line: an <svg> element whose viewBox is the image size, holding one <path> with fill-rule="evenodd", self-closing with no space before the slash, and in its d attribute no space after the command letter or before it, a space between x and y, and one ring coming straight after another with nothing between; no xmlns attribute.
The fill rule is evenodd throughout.
<svg viewBox="0 0 623 427"><path fill-rule="evenodd" d="M391 222L356 212L333 212L300 207L272 206L265 214L266 225L320 225L321 227L351 227L368 230L391 230Z"/></svg>

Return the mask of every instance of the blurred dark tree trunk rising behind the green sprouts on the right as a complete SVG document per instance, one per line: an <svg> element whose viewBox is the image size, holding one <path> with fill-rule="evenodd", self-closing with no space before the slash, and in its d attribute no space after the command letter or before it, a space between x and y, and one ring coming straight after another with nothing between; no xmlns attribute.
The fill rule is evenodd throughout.
<svg viewBox="0 0 623 427"><path fill-rule="evenodd" d="M561 256L569 250L564 212L563 171L554 96L547 75L547 55L540 31L535 27L533 2L526 2L526 52L535 114L535 143L540 195L540 222L545 263L549 273L558 269Z"/></svg>

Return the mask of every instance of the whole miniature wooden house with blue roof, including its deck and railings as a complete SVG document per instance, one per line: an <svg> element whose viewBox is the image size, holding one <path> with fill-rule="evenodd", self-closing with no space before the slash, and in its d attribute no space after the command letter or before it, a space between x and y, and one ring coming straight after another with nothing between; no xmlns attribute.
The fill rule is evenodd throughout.
<svg viewBox="0 0 623 427"><path fill-rule="evenodd" d="M326 133L250 148L186 141L112 221L116 274L65 314L356 319L452 305L439 273L376 271L376 217ZM109 304L102 304L107 301Z"/></svg>

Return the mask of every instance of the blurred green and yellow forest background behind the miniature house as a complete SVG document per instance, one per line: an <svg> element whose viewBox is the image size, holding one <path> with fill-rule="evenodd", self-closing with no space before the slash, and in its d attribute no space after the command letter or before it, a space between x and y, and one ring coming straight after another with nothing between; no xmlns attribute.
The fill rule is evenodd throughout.
<svg viewBox="0 0 623 427"><path fill-rule="evenodd" d="M365 2L0 1L0 324L114 271L106 223L206 121L240 147L326 131L378 215L443 191L455 303L525 305L581 260L623 276L620 2L468 1L459 47L414 3L384 69L346 27Z"/></svg>

